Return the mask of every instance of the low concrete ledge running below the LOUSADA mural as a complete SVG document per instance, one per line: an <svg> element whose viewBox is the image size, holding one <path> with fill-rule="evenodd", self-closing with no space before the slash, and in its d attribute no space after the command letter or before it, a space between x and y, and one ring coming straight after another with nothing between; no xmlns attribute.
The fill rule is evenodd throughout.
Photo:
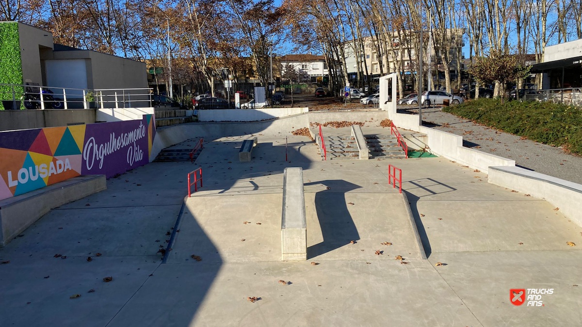
<svg viewBox="0 0 582 327"><path fill-rule="evenodd" d="M105 175L73 177L0 201L0 246L22 233L52 208L107 189Z"/></svg>

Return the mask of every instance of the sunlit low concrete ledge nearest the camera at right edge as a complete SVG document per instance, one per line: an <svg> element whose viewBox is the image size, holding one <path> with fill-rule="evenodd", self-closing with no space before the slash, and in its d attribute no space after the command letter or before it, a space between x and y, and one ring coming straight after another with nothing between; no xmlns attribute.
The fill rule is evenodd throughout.
<svg viewBox="0 0 582 327"><path fill-rule="evenodd" d="M550 202L582 226L582 185L519 167L489 167L488 182Z"/></svg>

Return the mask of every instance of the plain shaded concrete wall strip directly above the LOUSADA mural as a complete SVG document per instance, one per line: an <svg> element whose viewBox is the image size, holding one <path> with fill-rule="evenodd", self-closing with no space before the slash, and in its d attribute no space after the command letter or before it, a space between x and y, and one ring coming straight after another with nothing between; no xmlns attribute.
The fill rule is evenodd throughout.
<svg viewBox="0 0 582 327"><path fill-rule="evenodd" d="M67 126L77 123L92 124L94 122L94 109L0 111L0 131Z"/></svg>

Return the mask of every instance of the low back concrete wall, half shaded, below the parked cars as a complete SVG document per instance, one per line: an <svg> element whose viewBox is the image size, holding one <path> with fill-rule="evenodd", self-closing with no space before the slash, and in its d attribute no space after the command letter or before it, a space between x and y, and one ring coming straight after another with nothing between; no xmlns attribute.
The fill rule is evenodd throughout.
<svg viewBox="0 0 582 327"><path fill-rule="evenodd" d="M200 122L256 122L306 113L308 108L262 108L262 109L221 109L199 110Z"/></svg>

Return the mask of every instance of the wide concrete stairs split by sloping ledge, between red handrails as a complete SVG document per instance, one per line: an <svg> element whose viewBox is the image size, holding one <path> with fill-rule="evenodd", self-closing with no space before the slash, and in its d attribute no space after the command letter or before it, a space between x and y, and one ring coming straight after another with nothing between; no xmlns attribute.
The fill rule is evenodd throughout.
<svg viewBox="0 0 582 327"><path fill-rule="evenodd" d="M319 137L319 136L318 136ZM371 158L406 158L402 147L393 135L364 135ZM324 136L327 159L359 159L359 150L353 136ZM320 146L321 159L324 152Z"/></svg>

